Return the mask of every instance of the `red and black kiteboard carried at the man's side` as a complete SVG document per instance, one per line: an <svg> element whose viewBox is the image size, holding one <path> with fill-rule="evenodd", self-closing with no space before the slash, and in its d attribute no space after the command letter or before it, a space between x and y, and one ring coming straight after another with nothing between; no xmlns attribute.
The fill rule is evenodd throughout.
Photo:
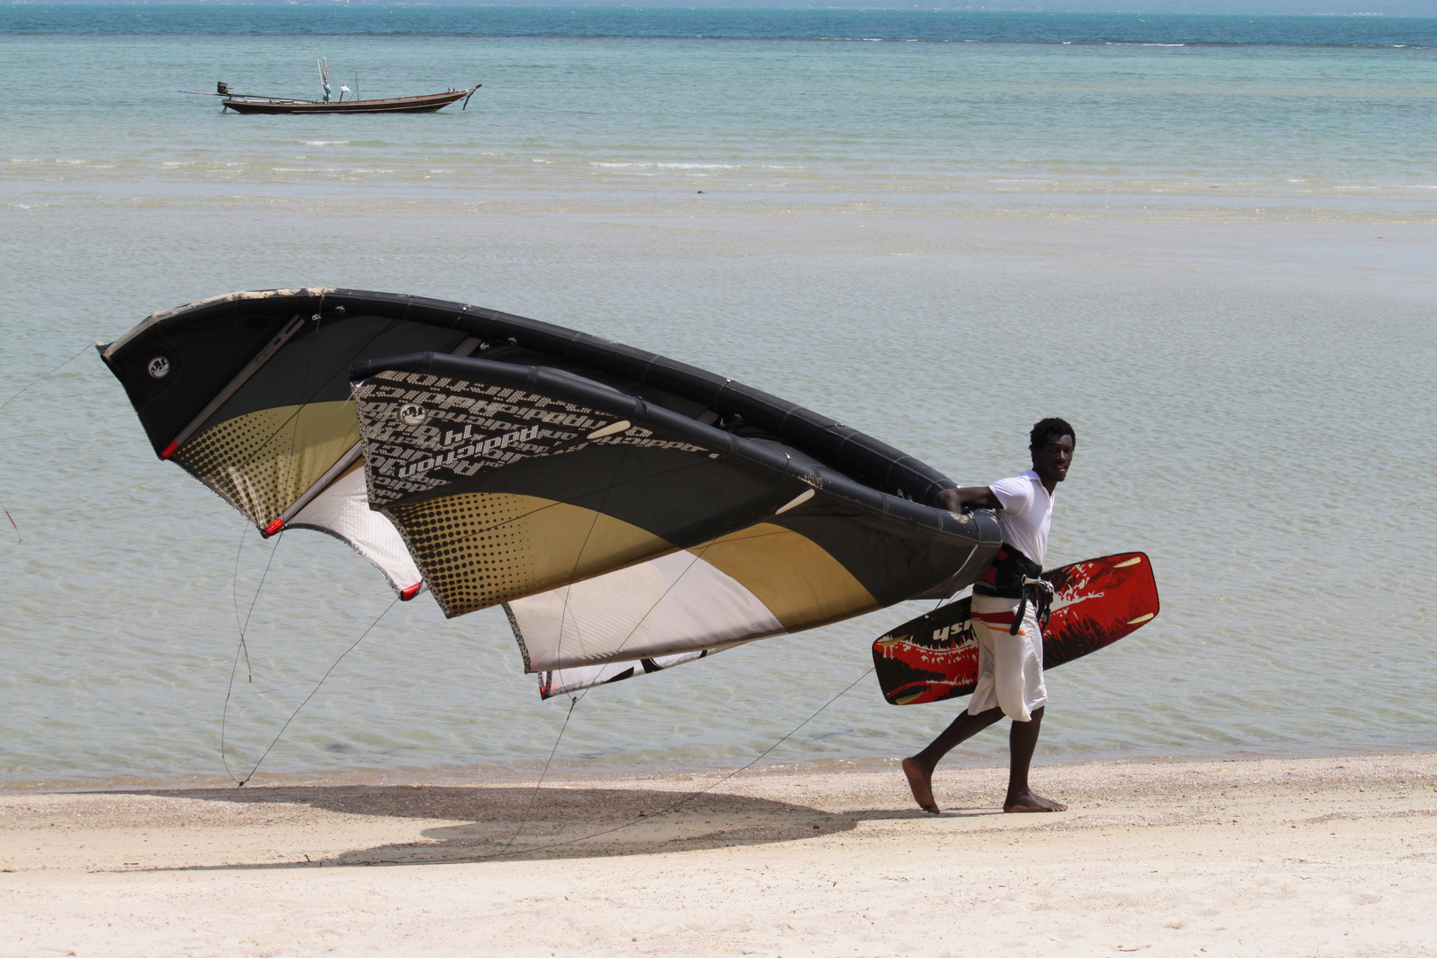
<svg viewBox="0 0 1437 958"><path fill-rule="evenodd" d="M1125 552L1075 562L1043 579L1053 583L1052 618L1043 629L1043 668L1050 669L1112 645L1158 613L1158 586L1145 553ZM874 642L874 669L891 705L941 702L973 691L979 642L969 622L971 597L946 605Z"/></svg>

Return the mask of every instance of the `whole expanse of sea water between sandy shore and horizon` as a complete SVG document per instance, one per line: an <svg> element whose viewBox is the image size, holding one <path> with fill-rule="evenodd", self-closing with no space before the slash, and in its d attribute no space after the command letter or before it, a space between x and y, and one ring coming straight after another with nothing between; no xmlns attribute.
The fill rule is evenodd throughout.
<svg viewBox="0 0 1437 958"><path fill-rule="evenodd" d="M483 86L211 95L320 57ZM497 609L260 540L92 343L293 286L655 350L960 484L1062 415L1046 564L1144 550L1163 609L1048 674L1039 763L1431 750L1434 243L1437 19L0 6L0 783L877 767L961 708L865 674L931 603L540 701Z"/></svg>

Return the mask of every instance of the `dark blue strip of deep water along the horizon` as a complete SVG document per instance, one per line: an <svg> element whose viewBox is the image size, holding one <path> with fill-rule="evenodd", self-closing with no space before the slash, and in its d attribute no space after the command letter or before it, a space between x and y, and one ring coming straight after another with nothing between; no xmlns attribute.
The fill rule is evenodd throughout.
<svg viewBox="0 0 1437 958"><path fill-rule="evenodd" d="M0 33L731 37L934 43L1434 47L1437 17L76 3L0 6Z"/></svg>

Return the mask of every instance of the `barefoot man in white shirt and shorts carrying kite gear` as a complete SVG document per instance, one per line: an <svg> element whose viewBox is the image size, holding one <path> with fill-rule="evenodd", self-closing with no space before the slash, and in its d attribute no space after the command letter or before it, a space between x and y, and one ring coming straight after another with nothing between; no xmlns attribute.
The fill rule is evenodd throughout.
<svg viewBox="0 0 1437 958"><path fill-rule="evenodd" d="M996 508L1003 523L1003 546L993 564L973 585L973 635L979 641L979 681L966 712L911 758L902 760L912 797L924 811L938 814L933 800L933 770L958 743L1007 715L1013 720L1003 811L1065 811L1068 806L1027 787L1027 766L1038 744L1048 687L1043 684L1043 636L1038 628L1038 579L1048 552L1053 518L1053 490L1068 478L1078 438L1063 419L1042 419L1029 432L1033 468L993 485L950 488L938 506ZM1016 622L1015 622L1016 619Z"/></svg>

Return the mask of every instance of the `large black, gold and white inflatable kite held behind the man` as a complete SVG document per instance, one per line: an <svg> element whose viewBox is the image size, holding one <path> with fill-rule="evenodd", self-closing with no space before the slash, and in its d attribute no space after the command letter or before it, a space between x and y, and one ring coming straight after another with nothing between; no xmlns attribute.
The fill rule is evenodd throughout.
<svg viewBox="0 0 1437 958"><path fill-rule="evenodd" d="M970 585L992 513L792 402L629 346L411 296L231 293L101 356L161 458L402 597L503 605L545 697Z"/></svg>

